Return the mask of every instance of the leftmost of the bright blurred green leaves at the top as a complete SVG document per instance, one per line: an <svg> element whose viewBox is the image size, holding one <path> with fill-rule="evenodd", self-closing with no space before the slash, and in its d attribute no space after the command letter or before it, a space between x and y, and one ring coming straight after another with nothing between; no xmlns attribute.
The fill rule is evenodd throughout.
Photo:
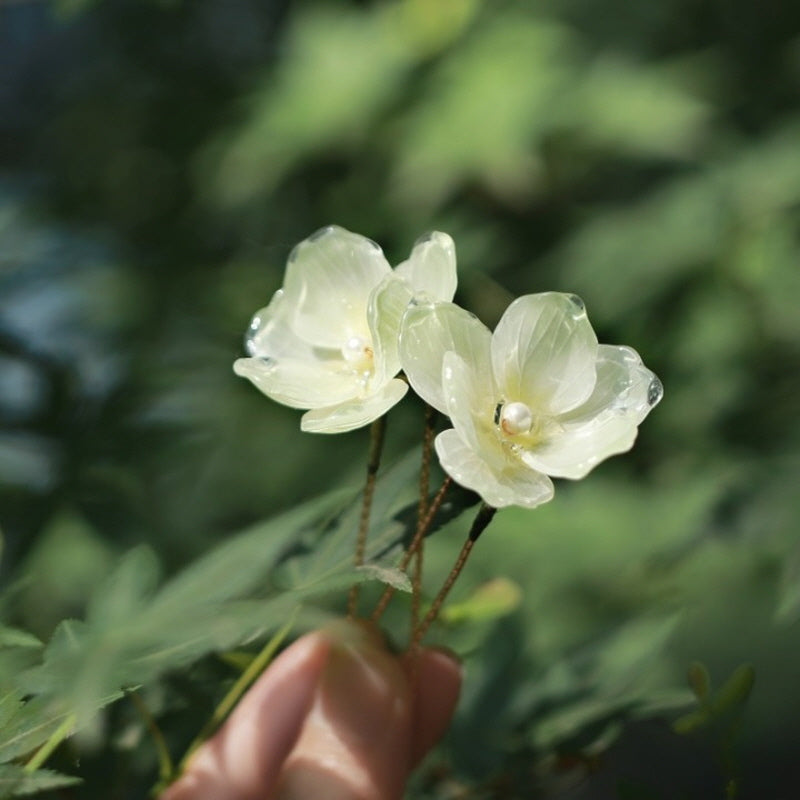
<svg viewBox="0 0 800 800"><path fill-rule="evenodd" d="M415 61L414 43L393 23L380 6L320 7L293 21L286 58L264 77L242 131L222 144L224 200L246 200L299 158L363 136Z"/></svg>

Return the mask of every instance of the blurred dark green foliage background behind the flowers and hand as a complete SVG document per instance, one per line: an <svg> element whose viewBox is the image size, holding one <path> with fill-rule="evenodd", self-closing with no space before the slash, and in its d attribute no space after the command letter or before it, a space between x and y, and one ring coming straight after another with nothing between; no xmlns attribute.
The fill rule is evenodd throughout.
<svg viewBox="0 0 800 800"><path fill-rule="evenodd" d="M365 432L301 435L232 361L317 228L392 263L444 230L487 324L576 292L666 393L630 455L481 540L436 633L461 711L411 796L795 797L798 86L788 0L0 2L6 622L46 639L132 546L171 574L357 483ZM693 661L755 686L679 734ZM143 796L140 749L95 742L61 796Z"/></svg>

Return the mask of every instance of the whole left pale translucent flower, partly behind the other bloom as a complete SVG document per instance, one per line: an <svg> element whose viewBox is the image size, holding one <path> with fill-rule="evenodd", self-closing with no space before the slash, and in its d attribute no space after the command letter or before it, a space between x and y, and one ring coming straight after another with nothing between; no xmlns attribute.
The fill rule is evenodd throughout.
<svg viewBox="0 0 800 800"><path fill-rule="evenodd" d="M249 358L233 368L268 397L309 409L301 428L360 428L397 403L408 385L398 337L412 296L451 300L455 247L444 233L414 246L392 270L375 242L336 226L294 248L283 288L253 317Z"/></svg>

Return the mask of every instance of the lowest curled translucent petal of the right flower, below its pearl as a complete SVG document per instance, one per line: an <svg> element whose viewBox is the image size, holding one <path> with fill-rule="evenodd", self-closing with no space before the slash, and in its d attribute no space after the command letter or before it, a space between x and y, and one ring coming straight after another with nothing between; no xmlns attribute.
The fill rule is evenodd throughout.
<svg viewBox="0 0 800 800"><path fill-rule="evenodd" d="M506 460L504 469L493 469L452 428L436 437L435 446L445 472L490 506L534 508L553 497L553 483L547 475L511 459Z"/></svg>

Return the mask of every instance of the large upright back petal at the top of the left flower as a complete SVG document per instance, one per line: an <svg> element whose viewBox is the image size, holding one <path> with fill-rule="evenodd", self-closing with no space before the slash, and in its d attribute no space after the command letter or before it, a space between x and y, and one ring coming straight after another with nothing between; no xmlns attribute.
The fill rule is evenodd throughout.
<svg viewBox="0 0 800 800"><path fill-rule="evenodd" d="M340 348L366 337L372 290L391 273L375 242L332 225L294 248L284 292L292 329L309 344Z"/></svg>

